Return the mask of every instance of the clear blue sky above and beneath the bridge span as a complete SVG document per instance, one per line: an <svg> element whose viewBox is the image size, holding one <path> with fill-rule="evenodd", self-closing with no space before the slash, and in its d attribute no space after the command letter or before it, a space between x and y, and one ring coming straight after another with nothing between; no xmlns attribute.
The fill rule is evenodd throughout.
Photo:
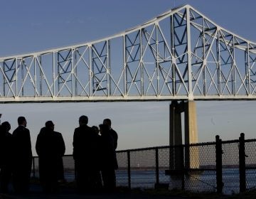
<svg viewBox="0 0 256 199"><path fill-rule="evenodd" d="M29 53L85 43L144 23L174 6L190 4L220 26L256 41L255 0L3 0L0 11L0 56ZM0 104L1 122L24 115L36 136L47 120L63 134L66 154L72 153L73 130L78 117L86 114L89 125L98 125L110 117L119 134L118 149L169 144L170 102L93 102ZM199 141L237 139L241 132L255 138L255 101L197 102ZM34 153L34 155L36 155Z"/></svg>

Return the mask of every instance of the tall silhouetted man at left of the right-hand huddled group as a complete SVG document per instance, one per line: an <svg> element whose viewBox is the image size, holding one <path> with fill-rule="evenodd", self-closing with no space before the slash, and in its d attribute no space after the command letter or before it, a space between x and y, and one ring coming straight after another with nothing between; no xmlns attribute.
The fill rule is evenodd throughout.
<svg viewBox="0 0 256 199"><path fill-rule="evenodd" d="M88 192L97 188L97 134L87 126L88 117L79 118L79 127L74 131L73 158L75 160L75 178L79 192Z"/></svg>

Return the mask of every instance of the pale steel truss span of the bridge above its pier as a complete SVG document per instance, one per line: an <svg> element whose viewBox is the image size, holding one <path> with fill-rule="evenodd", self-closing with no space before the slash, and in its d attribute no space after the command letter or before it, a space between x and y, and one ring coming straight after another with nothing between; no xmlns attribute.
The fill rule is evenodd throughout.
<svg viewBox="0 0 256 199"><path fill-rule="evenodd" d="M0 102L256 99L256 43L186 5L98 41L0 58Z"/></svg>

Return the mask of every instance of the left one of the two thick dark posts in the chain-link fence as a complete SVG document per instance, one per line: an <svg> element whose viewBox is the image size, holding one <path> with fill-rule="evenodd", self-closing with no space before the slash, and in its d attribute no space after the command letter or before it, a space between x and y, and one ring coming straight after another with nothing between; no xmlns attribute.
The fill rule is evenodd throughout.
<svg viewBox="0 0 256 199"><path fill-rule="evenodd" d="M223 193L223 176L222 176L222 144L220 136L215 136L215 153L216 153L216 183L217 193Z"/></svg>

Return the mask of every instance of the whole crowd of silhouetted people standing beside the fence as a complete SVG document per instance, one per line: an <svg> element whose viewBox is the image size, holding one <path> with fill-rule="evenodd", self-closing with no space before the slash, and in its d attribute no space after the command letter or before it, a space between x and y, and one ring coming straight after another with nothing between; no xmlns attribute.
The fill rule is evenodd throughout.
<svg viewBox="0 0 256 199"><path fill-rule="evenodd" d="M0 115L1 117L1 115ZM79 193L99 190L114 191L115 170L118 168L115 150L117 132L111 120L104 119L99 127L88 127L88 117L79 118L79 127L73 136L75 182ZM28 193L31 178L32 151L30 131L26 118L18 117L18 127L9 133L11 124L0 125L0 192L9 193L12 182L14 192ZM39 157L39 178L44 193L58 193L59 183L65 181L63 156L65 143L62 134L54 131L52 121L47 121L36 139Z"/></svg>

